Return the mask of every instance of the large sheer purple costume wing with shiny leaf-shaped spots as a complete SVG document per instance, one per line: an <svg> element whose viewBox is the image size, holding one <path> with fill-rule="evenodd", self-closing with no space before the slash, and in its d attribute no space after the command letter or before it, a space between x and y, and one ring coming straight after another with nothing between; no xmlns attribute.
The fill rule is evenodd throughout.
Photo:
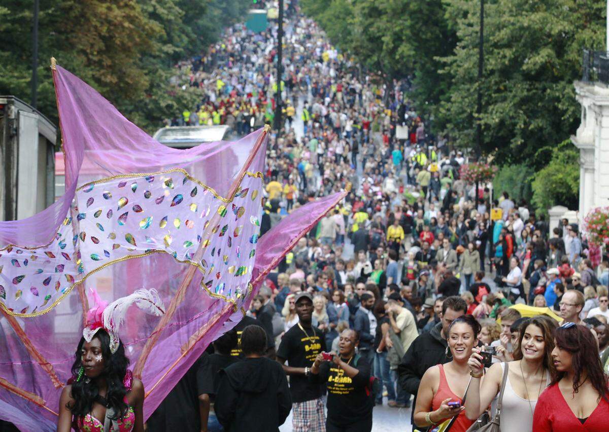
<svg viewBox="0 0 609 432"><path fill-rule="evenodd" d="M86 288L107 302L154 289L164 305L162 316L130 308L118 330L147 418L346 194L300 207L258 242L266 130L176 150L65 69L53 72L66 193L31 218L0 222L0 419L37 431L55 430Z"/></svg>

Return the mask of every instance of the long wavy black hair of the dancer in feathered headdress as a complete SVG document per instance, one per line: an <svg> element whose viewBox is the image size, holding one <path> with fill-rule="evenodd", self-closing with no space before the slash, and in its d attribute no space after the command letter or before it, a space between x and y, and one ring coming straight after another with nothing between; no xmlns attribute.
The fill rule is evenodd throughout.
<svg viewBox="0 0 609 432"><path fill-rule="evenodd" d="M102 344L102 358L104 358L104 371L102 376L106 380L108 386L105 399L107 407L112 407L116 411L116 417L113 420L122 419L127 415L128 406L125 403L125 395L127 389L123 384L125 374L127 374L127 366L129 359L125 357L125 348L122 342L119 343L118 350L114 354L110 352L110 335L105 330L98 330L93 338L99 339ZM82 347L85 344L85 338L80 338L80 343L76 349L76 360L72 364L72 376L78 377L80 368L82 367ZM74 380L72 383L72 398L74 402L68 402L66 408L72 411L72 415L76 417L84 417L91 413L93 403L99 394L96 380L86 382L85 375L82 375L79 381Z"/></svg>

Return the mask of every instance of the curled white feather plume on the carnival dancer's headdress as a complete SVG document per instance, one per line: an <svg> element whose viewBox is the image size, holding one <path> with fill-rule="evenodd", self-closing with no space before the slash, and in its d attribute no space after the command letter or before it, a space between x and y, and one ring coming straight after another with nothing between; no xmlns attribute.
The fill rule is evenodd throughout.
<svg viewBox="0 0 609 432"><path fill-rule="evenodd" d="M157 290L136 290L127 297L121 297L111 302L104 309L104 327L118 334L118 329L125 321L127 309L135 304L141 310L150 315L163 315L165 307Z"/></svg>

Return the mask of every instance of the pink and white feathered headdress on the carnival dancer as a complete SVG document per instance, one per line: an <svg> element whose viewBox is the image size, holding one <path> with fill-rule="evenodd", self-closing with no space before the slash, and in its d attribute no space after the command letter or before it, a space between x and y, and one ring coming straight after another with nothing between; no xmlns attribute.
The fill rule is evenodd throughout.
<svg viewBox="0 0 609 432"><path fill-rule="evenodd" d="M82 335L85 341L91 342L97 330L106 330L110 335L110 352L112 354L118 350L118 328L125 321L127 309L132 304L150 315L160 316L165 313L165 307L157 290L136 290L133 294L121 297L110 304L103 301L93 288L91 288L91 295L95 305L86 314L86 327L82 330Z"/></svg>

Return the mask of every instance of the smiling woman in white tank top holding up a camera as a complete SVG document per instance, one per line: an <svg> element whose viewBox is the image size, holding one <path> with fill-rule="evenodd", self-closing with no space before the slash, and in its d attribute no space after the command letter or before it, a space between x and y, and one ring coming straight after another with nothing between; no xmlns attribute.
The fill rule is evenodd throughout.
<svg viewBox="0 0 609 432"><path fill-rule="evenodd" d="M501 409L501 432L525 432L533 428L533 412L541 392L550 384L554 370L552 350L557 322L547 316L535 316L520 327L520 349L509 362L509 372ZM495 414L496 399L501 390L504 363L495 363L482 378L481 350L474 348L468 364L471 383L465 399L465 415L477 419L493 402L491 417ZM482 381L482 382L481 382ZM493 401L494 400L494 401Z"/></svg>

